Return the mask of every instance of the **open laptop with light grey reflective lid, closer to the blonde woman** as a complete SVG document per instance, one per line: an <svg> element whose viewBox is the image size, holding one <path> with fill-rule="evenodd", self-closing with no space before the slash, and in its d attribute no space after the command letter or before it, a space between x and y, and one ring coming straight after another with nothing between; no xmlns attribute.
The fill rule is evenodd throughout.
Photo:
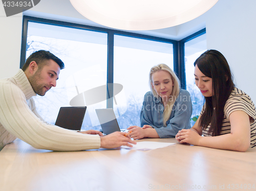
<svg viewBox="0 0 256 191"><path fill-rule="evenodd" d="M95 111L104 134L108 135L115 131L127 132L127 130L120 130L113 108L95 109Z"/></svg>

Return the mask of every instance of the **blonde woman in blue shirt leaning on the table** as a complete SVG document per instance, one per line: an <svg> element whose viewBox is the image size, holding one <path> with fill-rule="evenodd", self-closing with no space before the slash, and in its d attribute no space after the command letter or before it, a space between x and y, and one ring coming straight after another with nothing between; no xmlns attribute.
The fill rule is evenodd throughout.
<svg viewBox="0 0 256 191"><path fill-rule="evenodd" d="M127 128L134 139L144 137L173 138L181 129L189 129L192 103L187 90L180 89L180 81L166 64L151 68L151 91L144 96L140 113L141 127Z"/></svg>

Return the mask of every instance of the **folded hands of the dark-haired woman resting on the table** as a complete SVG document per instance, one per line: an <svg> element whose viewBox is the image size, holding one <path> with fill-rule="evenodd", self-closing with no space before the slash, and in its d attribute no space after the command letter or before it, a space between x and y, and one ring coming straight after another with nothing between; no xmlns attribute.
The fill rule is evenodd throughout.
<svg viewBox="0 0 256 191"><path fill-rule="evenodd" d="M199 145L199 140L200 138L202 138L202 136L200 136L198 132L194 130L182 129L176 134L175 138L180 143L188 143L190 145Z"/></svg>

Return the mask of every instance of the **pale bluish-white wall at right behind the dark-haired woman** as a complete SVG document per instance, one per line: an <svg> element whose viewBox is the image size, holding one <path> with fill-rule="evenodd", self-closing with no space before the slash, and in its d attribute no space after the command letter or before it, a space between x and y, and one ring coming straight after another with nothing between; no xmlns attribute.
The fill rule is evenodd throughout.
<svg viewBox="0 0 256 191"><path fill-rule="evenodd" d="M208 12L177 26L177 35L206 23L207 49L220 51L227 59L238 88L256 103L256 1L219 0ZM191 71L193 72L193 71Z"/></svg>

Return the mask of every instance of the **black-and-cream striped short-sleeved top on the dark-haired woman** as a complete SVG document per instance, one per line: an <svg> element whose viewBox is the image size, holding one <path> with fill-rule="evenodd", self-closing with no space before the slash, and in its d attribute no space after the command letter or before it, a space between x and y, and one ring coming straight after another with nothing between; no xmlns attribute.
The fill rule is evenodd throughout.
<svg viewBox="0 0 256 191"><path fill-rule="evenodd" d="M204 107L201 111L203 113ZM230 133L229 115L233 111L244 111L250 116L251 126L251 145L250 147L256 147L256 110L250 96L238 88L234 88L231 92L225 106L224 106L224 118L221 129L221 135ZM211 136L209 133L209 127L202 130L204 136Z"/></svg>

